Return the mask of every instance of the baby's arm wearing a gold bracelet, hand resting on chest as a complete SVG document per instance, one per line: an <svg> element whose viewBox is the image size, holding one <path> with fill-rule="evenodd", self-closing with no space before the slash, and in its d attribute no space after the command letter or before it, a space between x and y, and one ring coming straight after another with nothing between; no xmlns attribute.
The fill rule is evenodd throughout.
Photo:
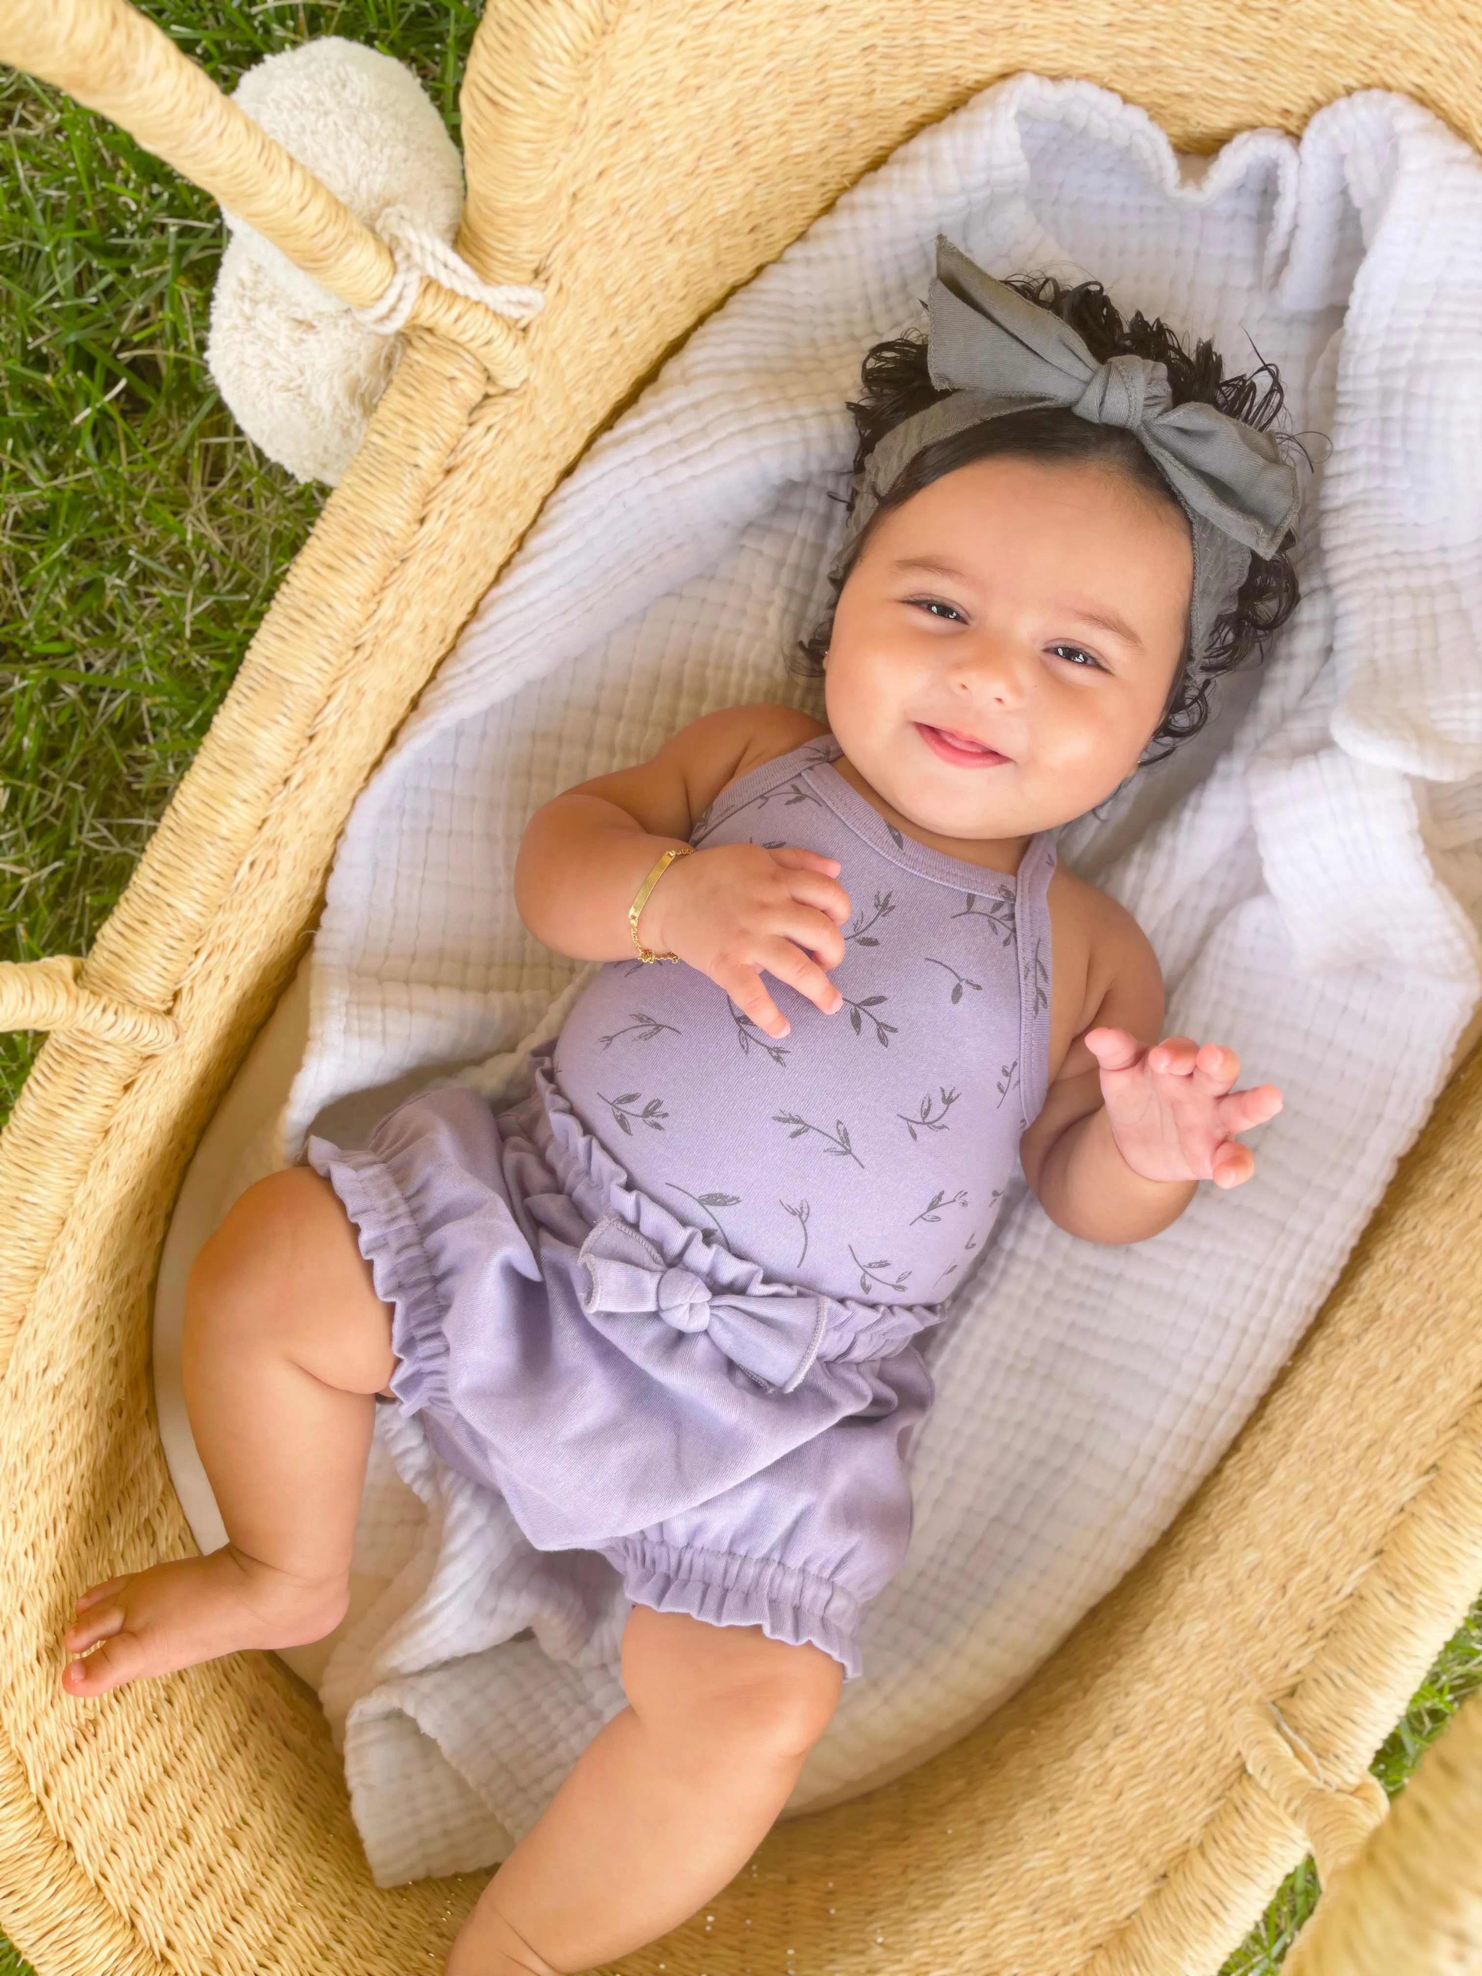
<svg viewBox="0 0 1482 1976"><path fill-rule="evenodd" d="M632 958L628 907L656 860L690 840L729 782L824 731L790 707L727 707L692 721L652 761L555 796L526 826L514 867L526 927L577 960ZM769 1035L786 1035L763 968L824 1014L842 1006L824 972L844 958L838 929L850 917L838 869L792 846L700 850L664 871L638 933L709 974Z"/></svg>

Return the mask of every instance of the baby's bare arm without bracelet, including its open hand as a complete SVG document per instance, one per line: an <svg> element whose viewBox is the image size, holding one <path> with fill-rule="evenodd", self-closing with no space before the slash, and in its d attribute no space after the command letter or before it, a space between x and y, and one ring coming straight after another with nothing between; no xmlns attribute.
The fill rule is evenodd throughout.
<svg viewBox="0 0 1482 1976"><path fill-rule="evenodd" d="M1255 1158L1233 1134L1275 1118L1280 1093L1275 1085L1235 1091L1241 1061L1219 1043L1158 1041L1164 986L1152 947L1128 913L1095 897L1091 1020L1020 1156L1051 1221L1087 1241L1128 1243L1176 1221L1199 1180L1217 1188L1249 1180Z"/></svg>

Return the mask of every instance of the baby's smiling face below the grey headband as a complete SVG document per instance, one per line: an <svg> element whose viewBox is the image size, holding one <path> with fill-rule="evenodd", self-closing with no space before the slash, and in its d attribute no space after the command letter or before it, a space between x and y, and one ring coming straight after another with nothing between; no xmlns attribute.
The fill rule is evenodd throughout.
<svg viewBox="0 0 1482 1976"><path fill-rule="evenodd" d="M828 723L919 830L1049 830L1136 767L1192 585L1184 516L1112 468L976 460L873 528L834 617Z"/></svg>

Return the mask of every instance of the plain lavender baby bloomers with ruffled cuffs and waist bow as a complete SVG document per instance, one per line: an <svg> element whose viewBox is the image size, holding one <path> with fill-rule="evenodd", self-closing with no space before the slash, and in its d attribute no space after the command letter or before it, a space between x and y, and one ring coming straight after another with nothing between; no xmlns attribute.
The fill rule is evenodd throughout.
<svg viewBox="0 0 1482 1976"><path fill-rule="evenodd" d="M860 1674L860 1606L911 1535L941 1308L767 1280L636 1192L557 1087L462 1089L370 1146L310 1138L393 1306L391 1389L541 1551L597 1551L634 1605L812 1642Z"/></svg>

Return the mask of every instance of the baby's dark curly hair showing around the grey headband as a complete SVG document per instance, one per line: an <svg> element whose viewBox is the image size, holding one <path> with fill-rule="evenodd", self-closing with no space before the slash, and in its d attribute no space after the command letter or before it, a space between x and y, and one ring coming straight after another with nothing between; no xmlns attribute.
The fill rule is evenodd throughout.
<svg viewBox="0 0 1482 1976"><path fill-rule="evenodd" d="M1008 287L1028 302L1047 308L1061 322L1069 322L1099 364L1116 356L1152 358L1162 364L1176 405L1190 401L1215 405L1231 419L1257 431L1267 431L1280 417L1284 393L1271 364L1259 364L1253 371L1227 377L1225 360L1211 342L1199 342L1194 350L1186 350L1162 318L1148 322L1142 312L1124 322L1099 281L1083 281L1067 288L1051 275L1022 275ZM931 381L925 334L895 336L875 344L864 360L860 397L850 403L860 433L854 454L856 474L864 470L885 433L947 395ZM903 506L913 494L931 486L933 480L941 480L943 474L956 472L958 466L1006 454L1033 460L1099 460L1126 474L1154 498L1178 508L1180 514L1184 512L1148 451L1124 427L1093 425L1067 407L1014 411L968 427L964 433L923 447L901 468L871 516L869 528L854 545L848 567L834 577L828 615L812 636L796 648L792 670L806 678L822 678L840 591L879 516ZM1148 739L1152 753L1146 753L1144 761L1160 761L1180 741L1188 741L1203 727L1209 719L1209 688L1221 674L1233 672L1253 652L1265 656L1267 640L1296 609L1296 573L1288 553L1292 539L1288 534L1276 555L1251 557L1235 607L1215 620L1209 646L1197 654L1197 662L1186 644L1162 719Z"/></svg>

